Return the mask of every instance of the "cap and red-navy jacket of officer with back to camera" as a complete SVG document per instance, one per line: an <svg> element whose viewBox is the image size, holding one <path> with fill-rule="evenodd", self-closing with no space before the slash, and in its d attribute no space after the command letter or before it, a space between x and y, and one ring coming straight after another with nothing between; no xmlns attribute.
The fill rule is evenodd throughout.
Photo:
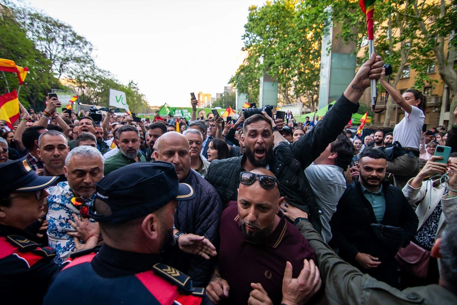
<svg viewBox="0 0 457 305"><path fill-rule="evenodd" d="M104 222L114 226L153 213L171 200L193 196L190 185L179 183L171 163L137 162L97 182L90 217L101 226ZM110 215L96 214L97 198L110 207ZM61 304L67 296L74 304L211 304L205 289L193 288L186 274L161 264L158 254L124 251L106 244L72 253L43 304Z"/></svg>

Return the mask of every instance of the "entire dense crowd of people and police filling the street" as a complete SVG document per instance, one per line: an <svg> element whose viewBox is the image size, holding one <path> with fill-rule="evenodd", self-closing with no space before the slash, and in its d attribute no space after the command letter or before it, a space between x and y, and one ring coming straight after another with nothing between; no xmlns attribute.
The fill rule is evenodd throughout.
<svg viewBox="0 0 457 305"><path fill-rule="evenodd" d="M5 304L456 304L457 110L422 133L425 96L383 64L303 124L21 106L0 126ZM372 79L405 118L353 135Z"/></svg>

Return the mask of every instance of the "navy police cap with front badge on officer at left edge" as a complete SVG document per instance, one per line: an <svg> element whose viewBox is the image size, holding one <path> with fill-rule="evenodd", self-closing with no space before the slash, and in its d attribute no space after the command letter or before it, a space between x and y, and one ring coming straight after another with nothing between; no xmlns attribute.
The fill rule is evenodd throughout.
<svg viewBox="0 0 457 305"><path fill-rule="evenodd" d="M13 192L34 192L49 187L58 177L38 176L26 158L0 165L1 198L8 198Z"/></svg>

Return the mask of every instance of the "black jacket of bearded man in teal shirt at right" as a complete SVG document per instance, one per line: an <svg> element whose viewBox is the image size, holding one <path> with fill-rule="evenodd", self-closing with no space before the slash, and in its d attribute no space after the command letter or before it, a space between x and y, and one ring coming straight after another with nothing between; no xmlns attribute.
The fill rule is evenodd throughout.
<svg viewBox="0 0 457 305"><path fill-rule="evenodd" d="M400 188L383 182L383 192L386 211L381 224L403 228L403 246L408 246L416 233L419 219ZM333 235L330 244L339 248L340 257L351 263L354 263L358 252L378 257L381 262L393 259L398 248L384 246L370 227L372 223L377 223L373 207L363 196L360 182L356 180L346 188L330 220Z"/></svg>

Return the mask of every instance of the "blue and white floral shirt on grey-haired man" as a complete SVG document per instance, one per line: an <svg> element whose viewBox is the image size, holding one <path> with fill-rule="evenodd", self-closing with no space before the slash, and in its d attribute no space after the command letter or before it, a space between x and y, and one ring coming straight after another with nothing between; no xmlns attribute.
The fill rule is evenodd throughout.
<svg viewBox="0 0 457 305"><path fill-rule="evenodd" d="M74 193L68 182L59 182L55 187L49 187L48 193L49 210L46 215L49 224L48 244L56 250L54 262L61 264L74 251L73 236L68 235L67 232L76 232L76 230L71 227L68 220L74 221L71 214L79 215L80 212L71 203ZM86 206L91 206L94 203L95 194L91 198L81 198Z"/></svg>

